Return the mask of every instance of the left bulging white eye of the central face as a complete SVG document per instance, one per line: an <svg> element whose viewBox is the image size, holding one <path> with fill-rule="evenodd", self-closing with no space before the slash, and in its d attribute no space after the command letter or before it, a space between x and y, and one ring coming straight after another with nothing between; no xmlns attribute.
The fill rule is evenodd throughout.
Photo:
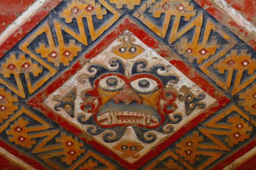
<svg viewBox="0 0 256 170"><path fill-rule="evenodd" d="M125 82L117 76L108 76L99 81L98 86L106 91L118 91Z"/></svg>

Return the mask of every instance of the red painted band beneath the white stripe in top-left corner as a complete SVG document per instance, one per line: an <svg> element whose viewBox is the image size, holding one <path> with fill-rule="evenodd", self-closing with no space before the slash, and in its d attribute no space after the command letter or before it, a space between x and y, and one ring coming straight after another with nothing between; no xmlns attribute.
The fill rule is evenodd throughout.
<svg viewBox="0 0 256 170"><path fill-rule="evenodd" d="M49 0L38 11L27 19L13 34L11 34L2 44L0 44L0 58L13 48L26 34L28 34L39 22L45 18L62 0Z"/></svg>

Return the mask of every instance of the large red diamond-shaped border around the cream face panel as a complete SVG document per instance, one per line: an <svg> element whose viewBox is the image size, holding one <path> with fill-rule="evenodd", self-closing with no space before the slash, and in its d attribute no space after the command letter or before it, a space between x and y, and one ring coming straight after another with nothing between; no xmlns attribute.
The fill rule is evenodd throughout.
<svg viewBox="0 0 256 170"><path fill-rule="evenodd" d="M85 54L85 58L93 58L95 57L100 51L105 49L109 44L111 44L121 33L123 33L125 30L129 30L134 35L136 35L144 44L147 46L155 49L155 48L161 48L159 46L158 40L154 39L147 33L145 33L142 29L139 28L139 26L130 20L128 17L126 17L122 23L120 23L110 34L106 35L101 42L96 45L96 47ZM158 49L159 50L159 49ZM165 53L159 53L162 57L165 57L166 54L171 56L171 51L164 50ZM124 168L128 168L129 170L137 170L139 167L143 166L145 163L147 163L150 159L154 158L155 155L158 155L161 153L165 148L167 148L170 144L175 142L180 136L183 136L186 134L189 130L195 128L198 123L202 122L203 120L210 117L213 113L215 113L218 109L222 108L224 105L226 105L228 102L230 102L230 99L228 99L223 94L219 94L215 87L211 84L209 84L204 78L200 77L199 74L197 74L190 66L187 66L185 63L179 60L171 60L170 63L177 67L183 74L185 74L188 78L190 78L194 83L196 83L200 88L202 88L204 91L206 91L209 95L216 98L218 101L218 105L209 108L205 113L200 114L198 117L190 121L186 125L186 127L182 127L177 131L177 133L173 134L172 136L168 137L163 143L159 144L156 149L151 150L149 153L144 155L139 159L139 161L130 164L123 159L121 159L117 154L111 152L110 150L106 149L104 146L98 144L94 140L87 140L86 138L81 138L86 143L91 144L94 148L96 148L101 153L112 157L114 160L118 161L121 166ZM35 97L33 97L30 101L27 103L33 107L37 107L40 109L40 111L45 114L47 117L53 119L57 123L59 123L61 126L63 126L65 129L70 131L71 133L74 133L75 135L81 135L82 131L79 130L75 125L71 125L67 120L62 119L58 114L53 113L50 109L48 109L46 106L42 104L44 99L51 93L53 93L60 85L62 85L65 81L67 81L72 75L74 75L79 69L81 69L80 61L78 61L72 68L70 68L68 71L63 73L62 76L59 76L57 80L55 80L51 85L48 85L45 89L43 89L39 94L37 94ZM193 72L193 74L191 73Z"/></svg>

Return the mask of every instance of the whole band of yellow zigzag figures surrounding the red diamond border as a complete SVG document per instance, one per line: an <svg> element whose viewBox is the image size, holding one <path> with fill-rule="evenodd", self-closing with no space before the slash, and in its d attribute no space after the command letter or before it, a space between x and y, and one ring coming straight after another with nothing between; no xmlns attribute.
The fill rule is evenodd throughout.
<svg viewBox="0 0 256 170"><path fill-rule="evenodd" d="M238 105L244 109L227 106L172 144L146 169L158 169L161 164L166 169L202 170L254 137L256 53L198 9L193 0L69 0L1 60L0 84L5 87L0 87L0 133L7 135L5 140L30 149L55 169L99 169L101 164L107 167L102 169L116 168L109 159L85 150L87 145L78 137L55 128L23 105L126 15L158 37L156 46L166 43L178 53L173 56L185 59L229 96L235 96L233 101L242 100ZM105 46L104 42L100 45ZM194 74L195 70L189 71Z"/></svg>

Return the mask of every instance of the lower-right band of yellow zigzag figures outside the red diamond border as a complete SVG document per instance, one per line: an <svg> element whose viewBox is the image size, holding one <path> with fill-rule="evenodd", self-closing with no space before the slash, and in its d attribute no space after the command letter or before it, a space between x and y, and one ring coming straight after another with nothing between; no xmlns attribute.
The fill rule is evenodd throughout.
<svg viewBox="0 0 256 170"><path fill-rule="evenodd" d="M225 119L227 116L228 119ZM153 161L147 168L157 169L162 163L166 165L166 160L176 160L176 164L179 163L183 168L203 170L222 154L228 153L231 147L249 138L255 125L249 123L249 117L245 113L231 105L229 109L215 115L211 121L198 126L199 131L195 129L180 138L175 146L160 154L158 160ZM208 159L205 160L205 156Z"/></svg>

